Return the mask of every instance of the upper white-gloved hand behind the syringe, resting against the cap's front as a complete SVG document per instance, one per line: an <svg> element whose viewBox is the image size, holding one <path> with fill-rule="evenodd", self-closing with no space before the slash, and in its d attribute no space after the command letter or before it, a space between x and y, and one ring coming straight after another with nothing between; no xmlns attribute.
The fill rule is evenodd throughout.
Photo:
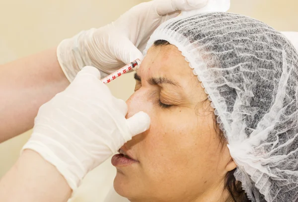
<svg viewBox="0 0 298 202"><path fill-rule="evenodd" d="M81 31L60 43L57 56L67 78L72 81L84 66L93 66L104 77L136 59L153 31L180 10L198 9L208 0L152 0L134 6L119 19L99 29Z"/></svg>

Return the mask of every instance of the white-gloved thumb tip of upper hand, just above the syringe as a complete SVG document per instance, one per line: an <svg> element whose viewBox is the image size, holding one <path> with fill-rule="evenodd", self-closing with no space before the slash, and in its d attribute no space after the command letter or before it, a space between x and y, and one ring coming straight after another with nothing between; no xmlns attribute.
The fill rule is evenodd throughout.
<svg viewBox="0 0 298 202"><path fill-rule="evenodd" d="M144 58L141 51L128 39L124 38L121 40L121 46L117 44L118 54L116 57L118 60L122 61L124 64L129 64L134 60Z"/></svg>

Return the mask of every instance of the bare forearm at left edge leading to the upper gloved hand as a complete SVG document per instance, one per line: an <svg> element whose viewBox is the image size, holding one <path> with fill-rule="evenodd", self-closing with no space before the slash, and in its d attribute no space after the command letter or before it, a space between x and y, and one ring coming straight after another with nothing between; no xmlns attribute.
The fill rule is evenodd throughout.
<svg viewBox="0 0 298 202"><path fill-rule="evenodd" d="M39 107L69 85L56 48L0 66L0 142L33 127Z"/></svg>

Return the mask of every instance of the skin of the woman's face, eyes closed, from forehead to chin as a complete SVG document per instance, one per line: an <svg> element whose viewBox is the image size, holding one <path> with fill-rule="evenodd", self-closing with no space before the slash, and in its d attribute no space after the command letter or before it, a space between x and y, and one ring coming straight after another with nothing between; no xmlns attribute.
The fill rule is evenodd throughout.
<svg viewBox="0 0 298 202"><path fill-rule="evenodd" d="M136 78L127 118L144 111L151 124L122 147L139 162L116 167L116 192L131 202L226 201L224 177L236 165L181 52L173 45L151 47Z"/></svg>

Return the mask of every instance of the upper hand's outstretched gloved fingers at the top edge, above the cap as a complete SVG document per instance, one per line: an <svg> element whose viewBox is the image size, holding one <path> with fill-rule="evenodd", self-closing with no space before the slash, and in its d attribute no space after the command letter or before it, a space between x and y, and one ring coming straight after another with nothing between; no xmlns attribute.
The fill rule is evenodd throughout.
<svg viewBox="0 0 298 202"><path fill-rule="evenodd" d="M207 5L208 0L154 0L158 15L162 16L177 10L199 9Z"/></svg>

